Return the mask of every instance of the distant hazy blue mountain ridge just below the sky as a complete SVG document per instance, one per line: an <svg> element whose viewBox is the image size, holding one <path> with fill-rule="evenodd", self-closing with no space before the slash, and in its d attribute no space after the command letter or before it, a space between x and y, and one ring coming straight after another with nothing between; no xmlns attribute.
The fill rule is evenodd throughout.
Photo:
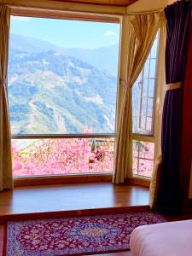
<svg viewBox="0 0 192 256"><path fill-rule="evenodd" d="M10 34L9 48L23 50L27 53L41 53L49 50L62 55L73 56L82 61L90 63L90 65L105 70L113 76L118 74L118 55L119 45L113 44L108 47L98 49L80 49L80 48L62 48L55 44L39 40L37 38L24 37L16 34Z"/></svg>

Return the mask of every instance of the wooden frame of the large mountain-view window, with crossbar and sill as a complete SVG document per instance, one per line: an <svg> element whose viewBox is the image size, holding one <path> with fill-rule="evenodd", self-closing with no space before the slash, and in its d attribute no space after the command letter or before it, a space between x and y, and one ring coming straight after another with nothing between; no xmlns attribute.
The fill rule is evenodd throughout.
<svg viewBox="0 0 192 256"><path fill-rule="evenodd" d="M79 21L93 21L93 22L106 22L106 23L119 23L119 59L120 59L120 45L121 45L121 15L112 14L99 14L99 13L84 13L82 11L66 11L66 10L53 10L53 9L33 9L30 7L11 7L10 16L23 16L23 17L36 17L48 19L61 19L61 20L79 20ZM120 62L120 60L118 60ZM117 127L117 105L119 98L119 64L117 73L117 93L116 93L116 107L115 107L115 131L113 133L84 133L84 134L26 134L11 135L12 139L45 139L45 138L113 138L114 148L116 139ZM91 172L91 173L72 173L62 175L39 175L39 176L15 176L15 186L25 185L38 185L44 183L81 183L81 182L111 182L113 172ZM84 178L86 177L86 178Z"/></svg>

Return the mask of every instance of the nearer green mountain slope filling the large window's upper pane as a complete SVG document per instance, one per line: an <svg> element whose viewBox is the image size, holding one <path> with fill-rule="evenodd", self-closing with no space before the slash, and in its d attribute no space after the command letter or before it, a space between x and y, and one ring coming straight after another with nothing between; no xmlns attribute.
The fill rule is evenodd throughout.
<svg viewBox="0 0 192 256"><path fill-rule="evenodd" d="M17 47L16 42L10 40L9 51L13 134L82 133L84 127L113 132L115 77L57 49L49 50L49 44L29 42L26 51L26 43ZM38 50L40 45L43 51Z"/></svg>

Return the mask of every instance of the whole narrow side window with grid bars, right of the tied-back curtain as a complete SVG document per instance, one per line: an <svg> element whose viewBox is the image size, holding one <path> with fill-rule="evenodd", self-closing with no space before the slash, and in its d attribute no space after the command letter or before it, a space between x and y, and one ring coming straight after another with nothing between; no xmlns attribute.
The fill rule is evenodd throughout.
<svg viewBox="0 0 192 256"><path fill-rule="evenodd" d="M133 85L133 176L151 177L154 166L154 125L156 108L156 70L159 32L142 72Z"/></svg>

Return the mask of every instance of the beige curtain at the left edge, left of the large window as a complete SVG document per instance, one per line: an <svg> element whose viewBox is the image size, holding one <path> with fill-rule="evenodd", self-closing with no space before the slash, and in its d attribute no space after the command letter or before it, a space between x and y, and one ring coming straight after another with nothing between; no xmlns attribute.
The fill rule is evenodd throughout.
<svg viewBox="0 0 192 256"><path fill-rule="evenodd" d="M0 191L13 188L7 95L9 8L0 5Z"/></svg>

